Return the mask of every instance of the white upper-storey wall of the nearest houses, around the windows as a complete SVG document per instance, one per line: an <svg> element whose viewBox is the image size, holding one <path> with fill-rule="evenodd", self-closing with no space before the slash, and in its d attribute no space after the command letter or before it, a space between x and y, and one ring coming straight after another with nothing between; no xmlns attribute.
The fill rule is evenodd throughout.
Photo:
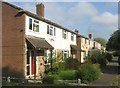
<svg viewBox="0 0 120 88"><path fill-rule="evenodd" d="M71 44L76 45L76 34L74 34L74 41L71 41L71 32L68 32L68 39L63 39L62 38L62 30L63 29L51 25L56 29L56 36L48 35L47 34L47 25L50 25L50 24L42 22L42 21L39 21L39 32L34 32L29 29L29 18L34 20L34 18L32 18L32 17L26 16L26 35L45 38L45 40L49 44L51 44L55 50L68 50L69 56L71 55L70 45ZM35 19L35 20L37 20L37 19Z"/></svg>

